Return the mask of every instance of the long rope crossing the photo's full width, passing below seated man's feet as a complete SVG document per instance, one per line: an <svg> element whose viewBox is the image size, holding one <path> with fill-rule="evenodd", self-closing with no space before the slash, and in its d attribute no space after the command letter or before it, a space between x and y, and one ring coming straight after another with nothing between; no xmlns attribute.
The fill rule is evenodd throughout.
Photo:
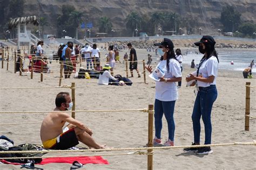
<svg viewBox="0 0 256 170"><path fill-rule="evenodd" d="M6 153L62 153L62 152L101 152L101 151L142 151L142 150L166 150L186 147L215 147L215 146L239 146L239 145L255 145L256 140L253 142L234 142L226 144L209 144L209 145L184 145L184 146L163 146L163 147L130 147L130 148L107 148L107 149L93 149L93 150L43 150L43 151L0 151L0 154ZM28 157L26 157L28 158ZM34 158L34 157L32 157Z"/></svg>

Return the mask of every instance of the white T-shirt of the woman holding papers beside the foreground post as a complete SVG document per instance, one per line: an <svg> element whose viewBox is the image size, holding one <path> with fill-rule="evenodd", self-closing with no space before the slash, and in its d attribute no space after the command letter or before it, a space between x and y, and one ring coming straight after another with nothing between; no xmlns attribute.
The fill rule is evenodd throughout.
<svg viewBox="0 0 256 170"><path fill-rule="evenodd" d="M179 62L171 59L169 62L169 73L167 72L166 60L160 61L157 65L163 69L165 78L181 77L181 69ZM156 81L156 99L159 101L176 101L178 99L178 89L176 82L159 82Z"/></svg>

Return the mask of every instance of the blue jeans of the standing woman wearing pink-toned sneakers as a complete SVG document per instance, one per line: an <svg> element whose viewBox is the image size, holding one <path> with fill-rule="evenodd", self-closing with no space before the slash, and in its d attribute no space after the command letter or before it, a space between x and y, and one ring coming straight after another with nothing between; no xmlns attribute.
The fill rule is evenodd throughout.
<svg viewBox="0 0 256 170"><path fill-rule="evenodd" d="M161 130L163 126L162 118L164 115L168 124L168 138L174 141L175 123L173 114L175 102L176 101L164 102L157 99L154 101L154 128L156 130L156 137L158 139L161 139Z"/></svg>

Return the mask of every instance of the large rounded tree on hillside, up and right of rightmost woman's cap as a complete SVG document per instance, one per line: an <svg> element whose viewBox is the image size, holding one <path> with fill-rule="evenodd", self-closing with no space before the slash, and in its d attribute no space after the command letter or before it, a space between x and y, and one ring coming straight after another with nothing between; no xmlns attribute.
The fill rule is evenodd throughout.
<svg viewBox="0 0 256 170"><path fill-rule="evenodd" d="M225 6L221 12L220 22L225 32L234 32L241 23L241 13L235 10L234 6Z"/></svg>

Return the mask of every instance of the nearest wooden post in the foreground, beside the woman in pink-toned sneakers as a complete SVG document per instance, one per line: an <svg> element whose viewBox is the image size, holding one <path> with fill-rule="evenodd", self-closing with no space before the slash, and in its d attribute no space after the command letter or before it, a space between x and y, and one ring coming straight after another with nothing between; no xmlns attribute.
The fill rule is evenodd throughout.
<svg viewBox="0 0 256 170"><path fill-rule="evenodd" d="M153 116L154 116L154 105L149 104L149 134L148 134L148 141L147 141L147 147L153 147ZM147 150L148 153L153 152L152 149ZM147 155L147 169L152 170L153 169L153 155Z"/></svg>

